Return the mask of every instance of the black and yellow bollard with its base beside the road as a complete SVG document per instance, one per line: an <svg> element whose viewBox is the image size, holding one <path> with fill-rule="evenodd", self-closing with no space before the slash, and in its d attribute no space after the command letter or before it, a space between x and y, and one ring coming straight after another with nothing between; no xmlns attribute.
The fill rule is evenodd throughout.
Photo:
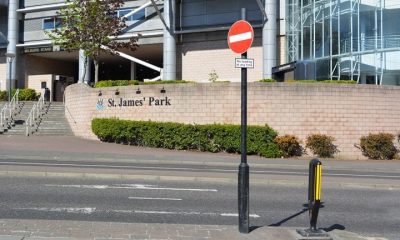
<svg viewBox="0 0 400 240"><path fill-rule="evenodd" d="M322 229L317 228L319 208L321 207L322 190L322 163L318 159L310 161L308 175L308 214L310 228L297 230L303 237L319 237L319 239L331 239Z"/></svg>

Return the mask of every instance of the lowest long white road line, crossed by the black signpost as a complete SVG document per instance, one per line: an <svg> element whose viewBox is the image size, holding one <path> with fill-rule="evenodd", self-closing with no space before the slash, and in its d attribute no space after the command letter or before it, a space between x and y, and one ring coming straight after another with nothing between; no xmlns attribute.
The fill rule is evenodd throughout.
<svg viewBox="0 0 400 240"><path fill-rule="evenodd" d="M97 210L96 208L16 208L15 210L30 210L40 212L58 212L74 214L93 214L93 213L123 213L123 214L156 214L156 215L198 215L211 217L238 217L237 213L212 213L212 212L170 212L170 211L145 211L145 210ZM250 214L250 218L260 218L257 214Z"/></svg>

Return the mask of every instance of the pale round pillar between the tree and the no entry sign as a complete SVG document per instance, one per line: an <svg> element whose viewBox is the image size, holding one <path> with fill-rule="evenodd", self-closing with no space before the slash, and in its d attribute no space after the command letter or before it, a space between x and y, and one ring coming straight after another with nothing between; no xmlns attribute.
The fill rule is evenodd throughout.
<svg viewBox="0 0 400 240"><path fill-rule="evenodd" d="M164 71L163 80L176 80L175 0L164 0Z"/></svg>

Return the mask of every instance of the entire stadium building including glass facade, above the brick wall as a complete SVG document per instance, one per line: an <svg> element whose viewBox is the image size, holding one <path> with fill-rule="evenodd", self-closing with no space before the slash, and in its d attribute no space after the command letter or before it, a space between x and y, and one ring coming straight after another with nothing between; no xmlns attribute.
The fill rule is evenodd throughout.
<svg viewBox="0 0 400 240"><path fill-rule="evenodd" d="M45 30L61 24L64 0L0 0L0 89L49 88L62 99L66 85L83 76L79 51L53 46ZM400 4L397 0L135 0L121 39L137 36L139 49L103 55L100 80L183 79L207 82L210 75L240 80L227 32L241 19L255 29L248 57L249 81L265 78L354 79L400 84ZM16 58L7 62L5 53ZM9 70L11 69L11 71ZM88 66L85 82L93 81Z"/></svg>

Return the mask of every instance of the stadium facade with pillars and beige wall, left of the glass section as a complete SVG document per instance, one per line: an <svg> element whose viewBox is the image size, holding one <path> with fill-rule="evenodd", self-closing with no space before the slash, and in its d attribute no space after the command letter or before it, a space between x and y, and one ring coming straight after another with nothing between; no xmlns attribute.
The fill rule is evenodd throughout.
<svg viewBox="0 0 400 240"><path fill-rule="evenodd" d="M54 99L60 99L65 85L80 79L83 57L78 51L52 46L44 32L61 24L57 10L66 4L63 0L0 0L0 89L7 89L10 75L6 52L16 54L11 64L13 86L48 87ZM255 29L248 53L255 68L249 81L271 78L272 67L285 63L285 22L278 16L284 8L278 5L279 0L126 1L118 16L127 17L128 27L119 38L138 36L140 47L134 52L121 50L119 56L103 55L99 79L209 81L215 73L218 79L239 81L240 69L234 67L239 56L229 50L227 32L241 19L242 8ZM93 72L93 66L88 72ZM85 81L92 80L93 74L87 74Z"/></svg>

